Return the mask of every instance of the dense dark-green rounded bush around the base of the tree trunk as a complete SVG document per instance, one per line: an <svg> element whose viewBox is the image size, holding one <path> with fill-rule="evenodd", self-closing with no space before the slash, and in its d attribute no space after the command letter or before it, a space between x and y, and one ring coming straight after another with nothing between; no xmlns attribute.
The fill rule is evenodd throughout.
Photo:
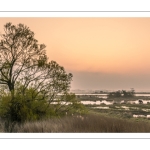
<svg viewBox="0 0 150 150"><path fill-rule="evenodd" d="M11 95L3 96L0 102L0 116L11 122L25 122L44 118L48 115L46 100L32 100L28 95L16 93L14 99Z"/></svg>

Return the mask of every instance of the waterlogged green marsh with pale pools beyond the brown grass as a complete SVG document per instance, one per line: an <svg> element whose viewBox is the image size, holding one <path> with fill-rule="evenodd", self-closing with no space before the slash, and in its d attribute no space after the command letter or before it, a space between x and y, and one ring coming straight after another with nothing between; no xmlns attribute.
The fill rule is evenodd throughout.
<svg viewBox="0 0 150 150"><path fill-rule="evenodd" d="M90 100L84 99L81 100L81 103L94 111L117 115L120 118L150 119L150 99L145 96L135 96L128 99L98 99L97 97L94 99L94 97L90 97Z"/></svg>

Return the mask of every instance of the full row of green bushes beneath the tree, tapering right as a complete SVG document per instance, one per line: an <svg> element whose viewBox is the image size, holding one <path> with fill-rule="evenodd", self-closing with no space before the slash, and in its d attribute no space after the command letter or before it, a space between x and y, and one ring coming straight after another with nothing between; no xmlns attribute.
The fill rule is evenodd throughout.
<svg viewBox="0 0 150 150"><path fill-rule="evenodd" d="M8 92L3 94L0 100L0 117L11 123L58 117L66 115L66 112L68 114L87 112L85 106L76 99L75 94L66 93L57 98L57 104L53 104L53 101L49 104L43 95L35 97L38 93L35 89L26 89L23 94L21 86L19 87L13 98Z"/></svg>

